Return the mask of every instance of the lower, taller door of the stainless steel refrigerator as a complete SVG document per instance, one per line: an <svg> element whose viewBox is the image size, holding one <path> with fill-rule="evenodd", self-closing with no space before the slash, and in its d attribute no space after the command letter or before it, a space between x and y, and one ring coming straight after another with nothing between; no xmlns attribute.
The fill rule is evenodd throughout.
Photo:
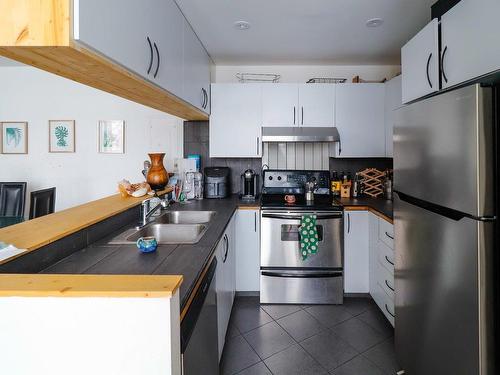
<svg viewBox="0 0 500 375"><path fill-rule="evenodd" d="M394 208L399 364L412 375L493 374L486 369L494 223L455 221L397 196Z"/></svg>

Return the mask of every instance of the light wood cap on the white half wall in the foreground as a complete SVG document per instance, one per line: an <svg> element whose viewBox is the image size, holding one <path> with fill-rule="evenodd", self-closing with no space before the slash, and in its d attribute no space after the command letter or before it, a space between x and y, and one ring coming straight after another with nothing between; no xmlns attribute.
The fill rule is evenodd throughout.
<svg viewBox="0 0 500 375"><path fill-rule="evenodd" d="M171 297L180 275L2 274L0 297Z"/></svg>

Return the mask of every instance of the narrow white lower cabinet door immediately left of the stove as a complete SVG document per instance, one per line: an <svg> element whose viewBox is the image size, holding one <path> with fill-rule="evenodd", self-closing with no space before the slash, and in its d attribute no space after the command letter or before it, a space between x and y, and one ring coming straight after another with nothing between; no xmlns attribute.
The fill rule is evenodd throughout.
<svg viewBox="0 0 500 375"><path fill-rule="evenodd" d="M260 290L260 214L259 210L236 212L236 290Z"/></svg>

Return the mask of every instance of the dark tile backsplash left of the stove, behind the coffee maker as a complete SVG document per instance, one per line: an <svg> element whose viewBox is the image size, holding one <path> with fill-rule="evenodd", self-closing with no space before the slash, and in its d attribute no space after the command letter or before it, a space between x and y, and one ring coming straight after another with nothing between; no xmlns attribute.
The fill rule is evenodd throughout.
<svg viewBox="0 0 500 375"><path fill-rule="evenodd" d="M260 175L260 158L211 158L208 148L208 122L184 122L184 157L189 154L201 155L201 169L205 167L229 167L231 169L231 193L240 192L240 175L248 168Z"/></svg>

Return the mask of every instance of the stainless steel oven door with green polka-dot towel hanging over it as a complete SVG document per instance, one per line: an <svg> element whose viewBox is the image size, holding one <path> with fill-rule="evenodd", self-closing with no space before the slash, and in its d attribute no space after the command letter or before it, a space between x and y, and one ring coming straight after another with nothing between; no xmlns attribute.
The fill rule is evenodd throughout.
<svg viewBox="0 0 500 375"><path fill-rule="evenodd" d="M318 252L302 260L299 227L302 215L317 216ZM344 223L341 211L261 212L261 267L342 270Z"/></svg>

